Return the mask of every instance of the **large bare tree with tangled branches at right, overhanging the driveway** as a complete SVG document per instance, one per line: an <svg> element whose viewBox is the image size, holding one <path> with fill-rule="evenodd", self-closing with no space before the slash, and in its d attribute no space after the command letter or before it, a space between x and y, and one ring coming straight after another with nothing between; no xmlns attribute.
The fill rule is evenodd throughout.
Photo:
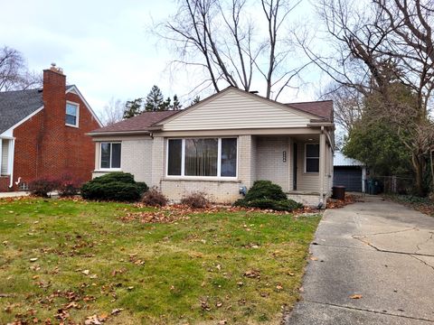
<svg viewBox="0 0 434 325"><path fill-rule="evenodd" d="M335 53L319 55L307 42L299 43L335 82L365 97L381 98L374 114L394 126L409 150L422 194L424 163L434 145L429 116L434 88L434 3L322 0L318 9ZM415 100L402 100L403 89L409 89Z"/></svg>

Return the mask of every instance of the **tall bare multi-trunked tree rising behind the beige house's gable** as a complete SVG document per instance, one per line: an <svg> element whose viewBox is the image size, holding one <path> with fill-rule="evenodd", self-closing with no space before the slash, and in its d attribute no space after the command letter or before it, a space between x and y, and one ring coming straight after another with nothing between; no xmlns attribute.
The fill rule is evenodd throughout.
<svg viewBox="0 0 434 325"><path fill-rule="evenodd" d="M229 85L249 91L258 76L265 80L266 97L277 99L309 64L289 68L294 49L286 31L288 14L299 2L180 0L177 13L156 30L175 47L175 63L204 72L197 88L219 91Z"/></svg>

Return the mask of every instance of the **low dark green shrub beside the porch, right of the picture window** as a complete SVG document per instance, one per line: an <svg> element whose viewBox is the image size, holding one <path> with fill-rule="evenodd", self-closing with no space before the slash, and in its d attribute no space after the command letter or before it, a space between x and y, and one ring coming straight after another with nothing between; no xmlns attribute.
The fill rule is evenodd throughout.
<svg viewBox="0 0 434 325"><path fill-rule="evenodd" d="M244 208L273 209L277 211L292 211L301 209L303 205L295 200L289 200L278 184L271 181L255 181L246 197L235 201L234 206Z"/></svg>

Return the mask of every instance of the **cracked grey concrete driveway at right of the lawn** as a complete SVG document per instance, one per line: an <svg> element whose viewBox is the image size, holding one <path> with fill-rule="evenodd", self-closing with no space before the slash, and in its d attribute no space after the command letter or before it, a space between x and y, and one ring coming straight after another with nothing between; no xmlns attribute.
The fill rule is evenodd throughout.
<svg viewBox="0 0 434 325"><path fill-rule="evenodd" d="M434 218L363 200L325 211L287 324L434 323Z"/></svg>

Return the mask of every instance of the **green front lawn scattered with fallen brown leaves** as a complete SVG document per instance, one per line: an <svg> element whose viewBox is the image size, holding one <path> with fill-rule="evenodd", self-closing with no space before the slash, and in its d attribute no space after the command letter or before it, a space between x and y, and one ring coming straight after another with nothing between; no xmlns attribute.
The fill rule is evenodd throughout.
<svg viewBox="0 0 434 325"><path fill-rule="evenodd" d="M277 323L297 301L319 217L121 219L146 210L0 200L0 323Z"/></svg>

